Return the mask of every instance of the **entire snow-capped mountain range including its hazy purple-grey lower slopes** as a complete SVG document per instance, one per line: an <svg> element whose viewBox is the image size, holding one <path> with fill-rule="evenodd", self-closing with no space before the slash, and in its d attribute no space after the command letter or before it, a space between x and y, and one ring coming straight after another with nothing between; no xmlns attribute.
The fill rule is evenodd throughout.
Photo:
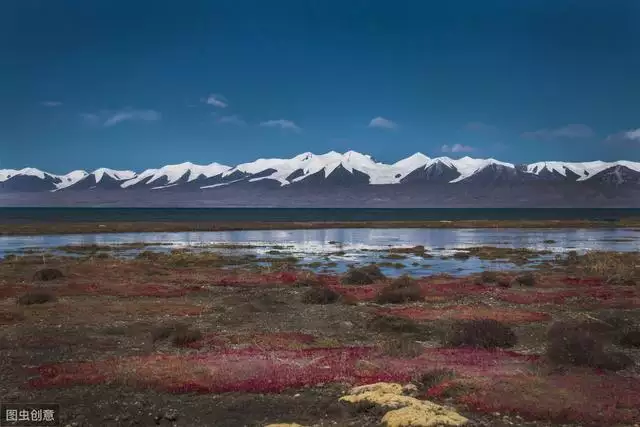
<svg viewBox="0 0 640 427"><path fill-rule="evenodd" d="M235 166L191 162L141 172L0 170L0 206L640 207L640 162L513 164L305 152Z"/></svg>

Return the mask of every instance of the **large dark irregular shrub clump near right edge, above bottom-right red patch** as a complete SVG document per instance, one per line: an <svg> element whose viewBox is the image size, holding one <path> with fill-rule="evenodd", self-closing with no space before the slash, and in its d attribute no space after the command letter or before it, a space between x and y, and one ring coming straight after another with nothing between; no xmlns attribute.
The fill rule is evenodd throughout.
<svg viewBox="0 0 640 427"><path fill-rule="evenodd" d="M624 353L605 351L602 339L583 323L557 322L547 338L547 359L557 365L619 371L633 364Z"/></svg>

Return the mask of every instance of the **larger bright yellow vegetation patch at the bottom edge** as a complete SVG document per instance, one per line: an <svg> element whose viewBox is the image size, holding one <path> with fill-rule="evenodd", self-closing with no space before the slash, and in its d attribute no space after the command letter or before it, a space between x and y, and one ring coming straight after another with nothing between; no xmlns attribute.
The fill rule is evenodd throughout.
<svg viewBox="0 0 640 427"><path fill-rule="evenodd" d="M387 427L463 426L469 420L452 409L426 400L404 396L409 388L396 383L377 383L355 387L343 402L370 402L391 410L382 418Z"/></svg>

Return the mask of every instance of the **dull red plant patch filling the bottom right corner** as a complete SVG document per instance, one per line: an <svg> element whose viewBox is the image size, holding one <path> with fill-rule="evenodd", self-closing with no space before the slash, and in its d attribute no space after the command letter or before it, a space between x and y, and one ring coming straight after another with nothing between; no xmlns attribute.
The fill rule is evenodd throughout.
<svg viewBox="0 0 640 427"><path fill-rule="evenodd" d="M459 399L480 412L603 426L640 422L640 381L619 375L530 375L493 379Z"/></svg>

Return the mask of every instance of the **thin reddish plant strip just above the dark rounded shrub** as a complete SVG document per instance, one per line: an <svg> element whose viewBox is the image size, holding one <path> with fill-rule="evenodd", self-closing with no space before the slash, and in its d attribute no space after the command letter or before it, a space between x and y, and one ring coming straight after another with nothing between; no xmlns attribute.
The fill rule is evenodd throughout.
<svg viewBox="0 0 640 427"><path fill-rule="evenodd" d="M544 322L551 319L546 313L497 307L452 306L445 308L399 307L379 310L380 314L406 317L413 320L473 320L493 319L505 323Z"/></svg>

